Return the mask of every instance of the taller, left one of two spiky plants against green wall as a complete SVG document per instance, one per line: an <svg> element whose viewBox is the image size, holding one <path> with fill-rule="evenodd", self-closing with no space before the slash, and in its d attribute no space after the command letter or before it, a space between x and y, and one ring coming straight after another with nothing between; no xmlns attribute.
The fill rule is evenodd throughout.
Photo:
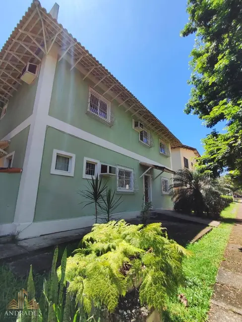
<svg viewBox="0 0 242 322"><path fill-rule="evenodd" d="M85 199L80 204L84 203L84 207L92 204L95 205L95 222L97 223L98 207L102 202L102 196L107 188L107 184L103 184L103 178L99 178L98 175L96 175L96 178L92 177L91 181L88 180L88 184L89 186L86 187L86 190L80 190L78 192Z"/></svg>

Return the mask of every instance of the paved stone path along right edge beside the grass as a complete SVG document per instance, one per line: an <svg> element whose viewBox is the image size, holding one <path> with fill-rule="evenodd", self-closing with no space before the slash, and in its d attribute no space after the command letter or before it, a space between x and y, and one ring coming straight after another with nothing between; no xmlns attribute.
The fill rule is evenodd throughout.
<svg viewBox="0 0 242 322"><path fill-rule="evenodd" d="M242 322L242 203L216 281L209 322Z"/></svg>

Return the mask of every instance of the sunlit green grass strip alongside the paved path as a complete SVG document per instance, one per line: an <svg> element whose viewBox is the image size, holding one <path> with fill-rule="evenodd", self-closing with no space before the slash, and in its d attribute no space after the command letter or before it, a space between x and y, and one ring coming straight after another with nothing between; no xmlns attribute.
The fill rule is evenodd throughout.
<svg viewBox="0 0 242 322"><path fill-rule="evenodd" d="M236 203L231 204L221 214L225 222L213 228L198 242L186 247L193 255L182 263L185 285L180 288L179 294L185 295L188 307L179 302L178 298L173 299L165 312L165 322L206 321L213 285L223 260L238 206Z"/></svg>

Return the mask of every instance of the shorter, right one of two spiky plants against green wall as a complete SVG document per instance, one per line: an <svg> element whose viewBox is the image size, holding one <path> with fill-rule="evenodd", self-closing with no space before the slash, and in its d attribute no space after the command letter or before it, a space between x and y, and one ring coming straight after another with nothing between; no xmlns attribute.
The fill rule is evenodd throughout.
<svg viewBox="0 0 242 322"><path fill-rule="evenodd" d="M103 212L101 220L103 222L109 222L110 220L114 220L112 214L123 202L122 196L115 198L115 191L113 192L111 188L107 187L106 194L104 196L102 195L101 198L103 202L99 205Z"/></svg>

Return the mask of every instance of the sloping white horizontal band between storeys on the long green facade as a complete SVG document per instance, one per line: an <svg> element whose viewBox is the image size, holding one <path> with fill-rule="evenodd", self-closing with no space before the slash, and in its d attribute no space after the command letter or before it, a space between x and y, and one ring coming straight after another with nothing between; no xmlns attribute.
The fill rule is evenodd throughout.
<svg viewBox="0 0 242 322"><path fill-rule="evenodd" d="M48 126L54 127L55 129L60 130L61 132L65 132L66 134L73 135L79 139L83 139L85 141L94 143L94 144L99 145L103 148L120 153L120 154L122 154L126 157L129 157L129 158L132 158L134 160L138 160L138 161L146 162L146 163L151 163L151 164L155 164L155 165L159 165L159 166L165 166L164 164L150 160L150 159L148 159L144 156L141 156L137 153L134 153L132 151L124 149L124 148L120 147L119 145L116 145L112 142L101 139L98 136L95 136L89 132L83 131L73 125L70 125L70 124L67 124L63 121L60 121L59 119L52 117L50 115L47 116L47 124L48 124ZM171 168L169 168L168 166L167 166L167 168L171 170Z"/></svg>

